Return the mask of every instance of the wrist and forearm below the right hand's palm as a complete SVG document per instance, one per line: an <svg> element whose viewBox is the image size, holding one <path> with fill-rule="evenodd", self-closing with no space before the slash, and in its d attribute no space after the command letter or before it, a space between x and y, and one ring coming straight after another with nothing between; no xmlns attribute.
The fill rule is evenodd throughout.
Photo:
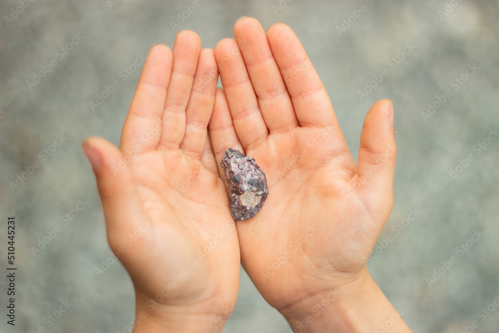
<svg viewBox="0 0 499 333"><path fill-rule="evenodd" d="M280 309L292 332L364 333L412 332L390 304L372 277L365 272L339 288L304 298Z"/></svg>

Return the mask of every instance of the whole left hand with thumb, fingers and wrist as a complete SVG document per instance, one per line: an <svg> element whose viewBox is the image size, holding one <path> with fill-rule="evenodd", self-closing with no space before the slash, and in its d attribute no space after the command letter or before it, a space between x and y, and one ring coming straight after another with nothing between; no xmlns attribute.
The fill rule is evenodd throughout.
<svg viewBox="0 0 499 333"><path fill-rule="evenodd" d="M133 281L134 332L220 332L235 306L240 252L207 126L218 82L192 31L151 48L120 149L85 141L107 237Z"/></svg>

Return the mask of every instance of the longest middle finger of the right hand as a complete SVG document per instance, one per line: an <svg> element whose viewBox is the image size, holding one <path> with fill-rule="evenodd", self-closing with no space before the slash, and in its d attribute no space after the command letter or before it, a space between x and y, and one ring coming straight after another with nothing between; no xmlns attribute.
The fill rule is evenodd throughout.
<svg viewBox="0 0 499 333"><path fill-rule="evenodd" d="M240 19L234 25L234 35L270 133L299 126L291 98L261 24L253 17Z"/></svg>

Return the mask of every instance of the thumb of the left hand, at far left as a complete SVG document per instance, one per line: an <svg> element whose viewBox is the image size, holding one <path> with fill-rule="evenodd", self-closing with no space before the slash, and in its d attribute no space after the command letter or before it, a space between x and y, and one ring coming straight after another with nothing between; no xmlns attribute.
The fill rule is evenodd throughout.
<svg viewBox="0 0 499 333"><path fill-rule="evenodd" d="M145 221L137 183L130 167L123 167L123 153L109 141L87 138L83 150L97 178L109 245L117 250Z"/></svg>

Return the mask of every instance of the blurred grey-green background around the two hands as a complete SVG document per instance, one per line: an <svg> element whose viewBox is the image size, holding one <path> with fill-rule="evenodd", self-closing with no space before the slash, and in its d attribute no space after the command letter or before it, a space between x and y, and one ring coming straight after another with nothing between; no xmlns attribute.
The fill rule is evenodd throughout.
<svg viewBox="0 0 499 333"><path fill-rule="evenodd" d="M1 2L2 332L123 332L132 321L133 289L123 267L114 263L99 277L94 272L110 249L80 143L90 135L119 143L142 65L130 75L122 70L137 54L154 43L173 46L180 29L196 31L203 47L213 48L233 36L242 15L258 18L265 29L276 21L294 29L355 158L367 110L378 99L393 100L395 204L368 267L403 319L414 332L460 333L475 320L475 332L498 332L499 309L490 304L499 295L499 139L493 134L499 2L287 1L202 0L173 28L170 21L193 1ZM388 75L372 81L383 69ZM38 81L40 71L47 73ZM114 80L120 86L103 94ZM92 110L97 95L107 98ZM428 104L435 111L428 113ZM58 147L56 135L63 140ZM34 161L39 166L11 189ZM88 202L81 211L78 200ZM15 328L4 314L7 216L17 222ZM56 225L62 230L34 255L31 247ZM474 232L483 235L472 239ZM457 249L461 244L467 251ZM451 256L457 262L444 268ZM427 278L434 270L443 274L433 283ZM65 300L69 309L56 322L47 320ZM224 332L290 332L244 271L237 309Z"/></svg>

